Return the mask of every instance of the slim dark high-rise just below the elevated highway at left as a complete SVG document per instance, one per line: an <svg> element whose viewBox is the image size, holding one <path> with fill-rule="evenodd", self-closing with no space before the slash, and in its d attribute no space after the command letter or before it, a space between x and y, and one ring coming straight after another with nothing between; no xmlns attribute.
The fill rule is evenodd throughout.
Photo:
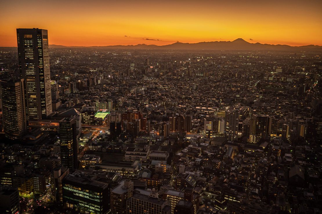
<svg viewBox="0 0 322 214"><path fill-rule="evenodd" d="M62 165L70 169L78 168L78 142L75 117L59 121Z"/></svg>

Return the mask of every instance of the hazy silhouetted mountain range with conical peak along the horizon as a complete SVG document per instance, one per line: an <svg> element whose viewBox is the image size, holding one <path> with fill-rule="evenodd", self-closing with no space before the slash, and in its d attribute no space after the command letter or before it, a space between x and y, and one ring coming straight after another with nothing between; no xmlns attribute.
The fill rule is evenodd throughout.
<svg viewBox="0 0 322 214"><path fill-rule="evenodd" d="M49 45L49 48L109 48L109 49L154 49L154 50L266 50L266 51L322 51L322 46L305 45L305 46L289 46L289 45L270 45L250 43L243 39L233 41L213 41L198 43L182 43L175 42L170 45L109 45L109 46L63 46Z"/></svg>

